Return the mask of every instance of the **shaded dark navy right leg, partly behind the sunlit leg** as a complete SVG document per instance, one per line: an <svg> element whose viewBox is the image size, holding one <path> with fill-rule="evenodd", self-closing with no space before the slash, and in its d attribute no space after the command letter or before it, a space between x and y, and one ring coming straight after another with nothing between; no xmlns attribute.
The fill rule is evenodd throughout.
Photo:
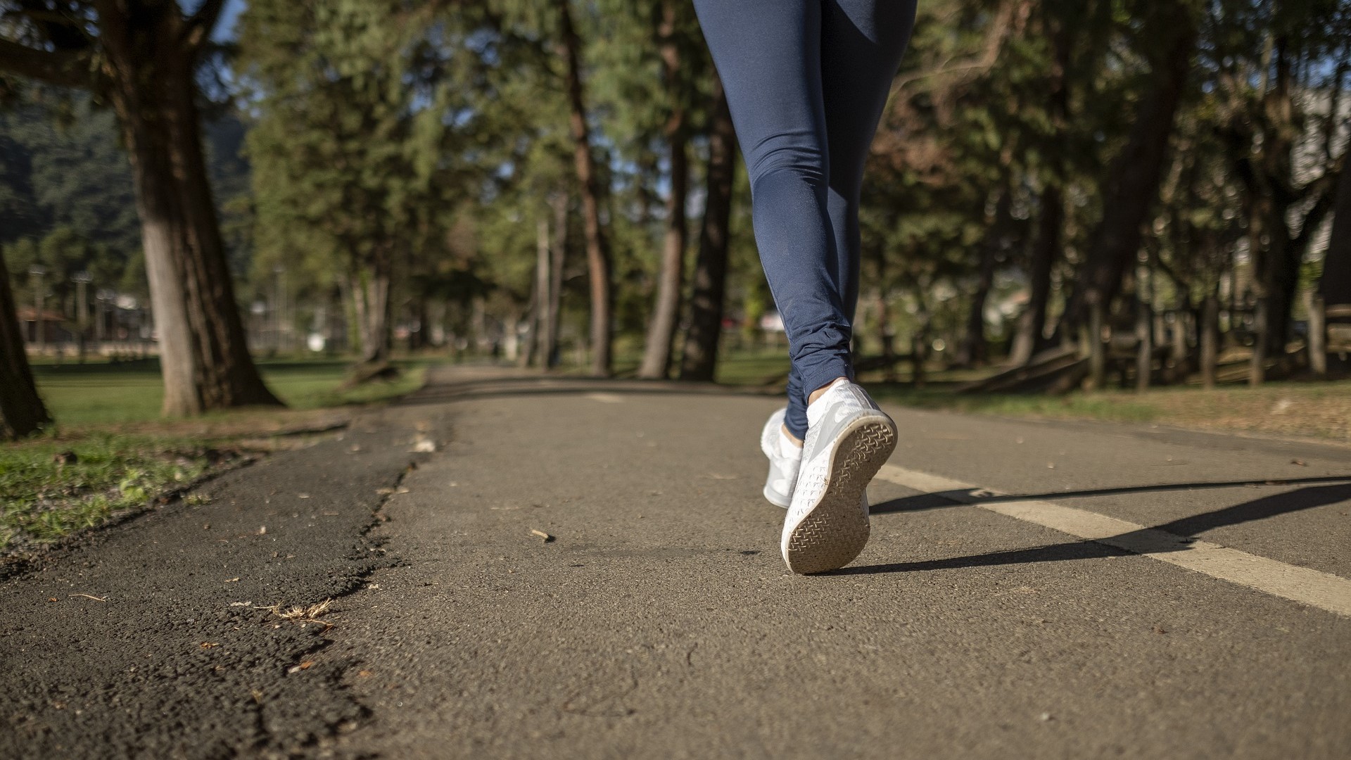
<svg viewBox="0 0 1351 760"><path fill-rule="evenodd" d="M850 326L858 306L858 201L877 123L915 27L915 0L824 0L821 89L830 143L827 206Z"/></svg>

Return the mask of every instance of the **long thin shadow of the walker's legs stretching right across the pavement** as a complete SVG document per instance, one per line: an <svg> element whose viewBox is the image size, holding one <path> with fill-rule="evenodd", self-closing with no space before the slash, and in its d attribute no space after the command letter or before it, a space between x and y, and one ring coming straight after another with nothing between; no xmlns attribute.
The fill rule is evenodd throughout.
<svg viewBox="0 0 1351 760"><path fill-rule="evenodd" d="M1244 502L1242 504L1235 504L1232 507L1225 507L1223 510L1215 510L1204 513L1200 515L1193 515L1182 519L1175 519L1173 522L1166 522L1154 527L1146 527L1143 530L1132 530L1129 533L1123 533L1120 536L1113 536L1111 538L1101 538L1097 541L1073 541L1069 544L1052 544L1050 546L1034 546L1029 549L1015 549L1008 552L990 552L988 554L971 554L967 557L948 557L943 560L925 560L919 563L889 563L884 565L862 565L862 567L848 567L842 568L830 573L823 575L875 575L885 572L924 572L924 571L939 571L939 569L957 569L957 568L979 568L979 567L993 567L993 565L1017 565L1028 563L1056 563L1065 560L1090 560L1101 557L1120 557L1136 553L1156 553L1156 552L1181 552L1186 550L1189 544L1194 541L1194 536L1205 533L1216 527L1223 527L1228 525L1239 525L1244 522L1254 522L1259 519L1266 519L1275 515L1282 515L1288 513L1296 513L1301 510L1309 510L1313 507L1321 507L1327 504L1335 504L1337 502L1344 502L1351 499L1351 477L1308 477L1301 480L1285 480L1281 483L1325 483L1328 480L1339 481L1332 485L1316 485L1309 488L1300 488L1298 491L1292 491L1288 494L1275 494L1271 496L1263 496L1260 499L1254 499L1251 502ZM1259 481L1267 483L1267 481ZM1244 485L1244 483L1227 483L1227 484L1193 484L1190 487L1232 487ZM1158 491L1174 487L1139 487L1139 488L1113 488L1108 492L1146 492ZM1078 492L1077 495L1092 495L1101 494L1101 491L1092 492ZM1070 496L1071 494L1052 494L1052 496ZM1017 499L1034 499L1044 496L996 496L989 499L967 499L965 503L981 503L981 502L1011 502ZM934 502L943 500L946 504L936 504ZM901 506L894 508L900 503L915 502L913 506ZM920 506L924 504L924 506ZM894 499L884 504L878 504L874 508L893 506L888 511L915 511L923 508L935 508L938 506L958 506L950 498L942 494L921 494L919 496L909 496L905 499ZM1127 544L1135 548L1135 552L1128 552L1125 549L1117 549L1109 544Z"/></svg>

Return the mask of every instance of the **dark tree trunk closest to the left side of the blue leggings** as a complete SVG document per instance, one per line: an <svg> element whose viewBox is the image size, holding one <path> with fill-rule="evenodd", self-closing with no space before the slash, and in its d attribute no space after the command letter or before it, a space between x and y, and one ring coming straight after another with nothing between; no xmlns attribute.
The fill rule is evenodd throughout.
<svg viewBox="0 0 1351 760"><path fill-rule="evenodd" d="M736 131L727 110L723 82L713 74L713 110L708 137L708 172L704 193L704 226L694 261L689 333L681 357L681 380L713 380L717 343L723 335L723 300L727 289L727 243L732 216L732 179L736 170Z"/></svg>

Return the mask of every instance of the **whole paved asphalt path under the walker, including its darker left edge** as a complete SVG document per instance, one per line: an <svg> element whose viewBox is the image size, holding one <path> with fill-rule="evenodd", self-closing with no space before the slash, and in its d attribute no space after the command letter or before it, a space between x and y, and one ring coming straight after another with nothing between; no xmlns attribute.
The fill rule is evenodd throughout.
<svg viewBox="0 0 1351 760"><path fill-rule="evenodd" d="M0 583L0 757L1351 757L1351 449L892 408L804 577L777 406L442 371Z"/></svg>

